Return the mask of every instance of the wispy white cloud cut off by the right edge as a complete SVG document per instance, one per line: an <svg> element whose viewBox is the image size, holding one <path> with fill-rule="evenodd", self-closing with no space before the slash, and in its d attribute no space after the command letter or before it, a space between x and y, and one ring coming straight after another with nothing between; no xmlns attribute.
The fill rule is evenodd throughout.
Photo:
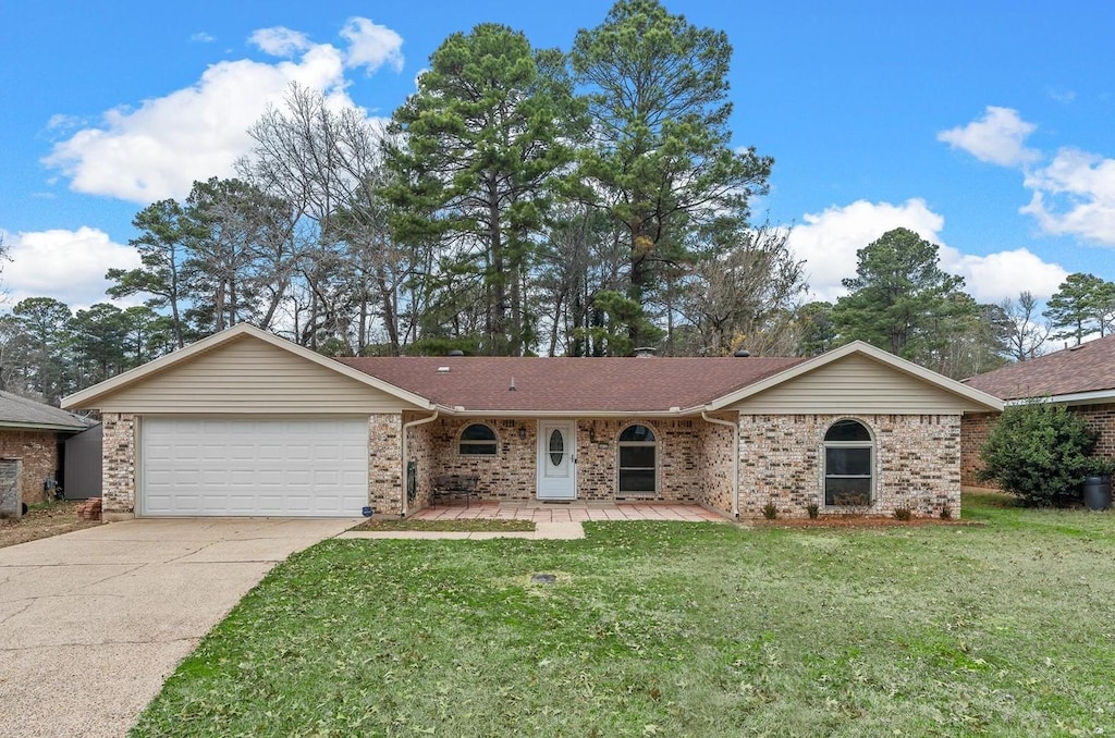
<svg viewBox="0 0 1115 738"><path fill-rule="evenodd" d="M1046 233L1115 245L1115 159L1063 148L1048 166L1027 174L1032 215Z"/></svg>

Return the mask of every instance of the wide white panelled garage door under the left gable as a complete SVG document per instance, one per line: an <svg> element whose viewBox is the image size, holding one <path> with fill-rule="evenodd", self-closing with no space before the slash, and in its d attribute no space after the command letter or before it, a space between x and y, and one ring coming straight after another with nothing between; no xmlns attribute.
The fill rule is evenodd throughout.
<svg viewBox="0 0 1115 738"><path fill-rule="evenodd" d="M368 423L145 418L140 515L359 515Z"/></svg>

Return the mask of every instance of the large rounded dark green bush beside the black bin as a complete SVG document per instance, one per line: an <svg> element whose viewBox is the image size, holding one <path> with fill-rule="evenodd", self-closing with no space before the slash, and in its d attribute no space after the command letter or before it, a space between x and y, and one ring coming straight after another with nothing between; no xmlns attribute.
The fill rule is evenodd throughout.
<svg viewBox="0 0 1115 738"><path fill-rule="evenodd" d="M1027 506L1065 506L1080 497L1094 473L1096 434L1060 405L1034 400L1010 406L980 448L978 476Z"/></svg>

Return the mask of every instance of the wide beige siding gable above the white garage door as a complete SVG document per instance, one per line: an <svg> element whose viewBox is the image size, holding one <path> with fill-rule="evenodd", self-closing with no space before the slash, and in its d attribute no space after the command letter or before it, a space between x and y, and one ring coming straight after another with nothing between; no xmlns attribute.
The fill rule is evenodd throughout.
<svg viewBox="0 0 1115 738"><path fill-rule="evenodd" d="M106 395L97 406L140 415L371 415L415 408L250 337Z"/></svg>

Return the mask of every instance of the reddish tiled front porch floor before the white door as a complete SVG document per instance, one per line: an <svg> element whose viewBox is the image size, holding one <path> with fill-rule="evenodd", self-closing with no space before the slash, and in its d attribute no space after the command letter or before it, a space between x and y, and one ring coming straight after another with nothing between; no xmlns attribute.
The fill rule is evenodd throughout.
<svg viewBox="0 0 1115 738"><path fill-rule="evenodd" d="M469 505L435 505L410 516L416 521L457 521L492 518L535 523L584 523L586 521L683 521L726 523L728 518L700 505L680 503L618 503L569 505L475 502Z"/></svg>

